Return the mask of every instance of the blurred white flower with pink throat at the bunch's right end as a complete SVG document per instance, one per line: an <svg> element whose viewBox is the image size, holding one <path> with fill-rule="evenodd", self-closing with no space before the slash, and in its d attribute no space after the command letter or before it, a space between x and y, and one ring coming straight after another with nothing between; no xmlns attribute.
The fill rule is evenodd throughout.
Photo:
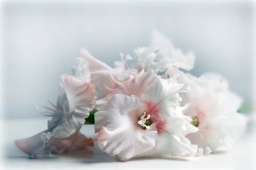
<svg viewBox="0 0 256 170"><path fill-rule="evenodd" d="M181 80L182 78L180 78ZM245 131L246 118L237 113L241 99L228 89L228 82L217 74L204 74L199 78L183 75L191 91L181 95L184 114L193 118L199 128L187 137L204 149L204 154L227 147Z"/></svg>

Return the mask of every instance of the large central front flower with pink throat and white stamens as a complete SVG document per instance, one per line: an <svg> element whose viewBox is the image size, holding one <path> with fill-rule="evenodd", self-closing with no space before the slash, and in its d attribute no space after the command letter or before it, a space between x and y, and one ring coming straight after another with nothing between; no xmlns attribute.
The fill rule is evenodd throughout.
<svg viewBox="0 0 256 170"><path fill-rule="evenodd" d="M152 71L112 81L112 93L95 114L95 139L101 150L121 160L196 153L197 146L185 135L197 128L178 109L183 84L160 79Z"/></svg>

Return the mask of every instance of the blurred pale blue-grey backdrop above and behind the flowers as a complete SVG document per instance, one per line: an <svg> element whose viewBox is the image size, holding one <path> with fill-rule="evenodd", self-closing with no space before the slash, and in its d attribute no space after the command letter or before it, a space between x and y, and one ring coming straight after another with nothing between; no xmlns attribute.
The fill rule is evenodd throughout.
<svg viewBox="0 0 256 170"><path fill-rule="evenodd" d="M37 105L55 102L81 48L113 66L119 52L149 45L153 29L195 53L192 74L222 74L253 103L253 1L6 1L1 12L5 118L38 117Z"/></svg>

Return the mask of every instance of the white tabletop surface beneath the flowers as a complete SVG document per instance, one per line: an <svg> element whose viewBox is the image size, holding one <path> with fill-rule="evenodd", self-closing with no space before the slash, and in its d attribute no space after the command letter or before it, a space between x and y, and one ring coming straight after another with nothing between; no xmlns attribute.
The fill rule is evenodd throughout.
<svg viewBox="0 0 256 170"><path fill-rule="evenodd" d="M46 129L46 118L5 120L2 126L4 158L1 169L256 169L256 135L252 129L228 152L189 158L164 156L117 162L96 146L63 155L28 159L26 154L16 148L14 140ZM92 137L93 125L84 125L81 132L86 134L86 137Z"/></svg>

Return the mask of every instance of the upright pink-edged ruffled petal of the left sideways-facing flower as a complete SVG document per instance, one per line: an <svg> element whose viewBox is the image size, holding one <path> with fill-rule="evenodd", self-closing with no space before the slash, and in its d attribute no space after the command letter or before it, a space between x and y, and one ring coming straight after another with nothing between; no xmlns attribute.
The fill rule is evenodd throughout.
<svg viewBox="0 0 256 170"><path fill-rule="evenodd" d="M72 75L62 75L61 79L68 99L68 113L72 116L74 128L79 128L96 104L95 86Z"/></svg>

